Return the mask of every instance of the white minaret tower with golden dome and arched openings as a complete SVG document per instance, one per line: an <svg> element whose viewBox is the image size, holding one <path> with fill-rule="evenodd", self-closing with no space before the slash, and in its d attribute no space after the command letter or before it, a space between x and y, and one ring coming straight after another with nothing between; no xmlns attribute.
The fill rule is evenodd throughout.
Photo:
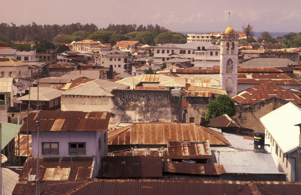
<svg viewBox="0 0 301 195"><path fill-rule="evenodd" d="M220 82L230 97L237 95L238 32L230 26L221 31Z"/></svg>

